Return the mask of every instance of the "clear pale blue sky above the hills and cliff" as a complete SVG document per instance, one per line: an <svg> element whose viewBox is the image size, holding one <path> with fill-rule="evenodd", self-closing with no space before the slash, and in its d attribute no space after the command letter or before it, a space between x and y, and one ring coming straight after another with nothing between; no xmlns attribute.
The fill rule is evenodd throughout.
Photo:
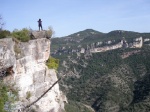
<svg viewBox="0 0 150 112"><path fill-rule="evenodd" d="M54 37L85 29L150 32L150 0L0 0L4 29L53 29Z"/></svg>

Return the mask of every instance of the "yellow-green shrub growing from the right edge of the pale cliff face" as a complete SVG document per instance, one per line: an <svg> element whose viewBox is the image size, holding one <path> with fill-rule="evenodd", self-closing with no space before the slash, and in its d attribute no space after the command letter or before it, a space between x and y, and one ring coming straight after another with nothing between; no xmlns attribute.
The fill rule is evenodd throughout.
<svg viewBox="0 0 150 112"><path fill-rule="evenodd" d="M46 65L48 66L49 69L58 69L59 66L59 60L55 59L53 57L50 57L47 62Z"/></svg>

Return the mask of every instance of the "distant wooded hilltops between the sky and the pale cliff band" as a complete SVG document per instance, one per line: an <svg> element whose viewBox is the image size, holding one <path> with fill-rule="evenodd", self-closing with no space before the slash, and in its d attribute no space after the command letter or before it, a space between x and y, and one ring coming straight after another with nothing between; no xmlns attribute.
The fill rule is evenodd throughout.
<svg viewBox="0 0 150 112"><path fill-rule="evenodd" d="M115 43L119 42L122 38L125 38L127 41L131 42L134 38L143 37L150 38L150 33L138 33L132 31L122 31L115 30L109 33L102 33L95 31L93 29L86 29L79 31L77 33L71 34L69 36L61 38L52 38L51 51L56 52L59 49L77 49L78 47L87 47L96 42L108 42L114 41Z"/></svg>

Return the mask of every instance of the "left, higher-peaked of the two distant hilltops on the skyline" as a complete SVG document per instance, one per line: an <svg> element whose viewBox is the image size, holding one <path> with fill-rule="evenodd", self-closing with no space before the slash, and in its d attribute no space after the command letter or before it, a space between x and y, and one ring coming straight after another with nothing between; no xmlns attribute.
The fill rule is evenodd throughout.
<svg viewBox="0 0 150 112"><path fill-rule="evenodd" d="M87 29L65 37L52 38L51 50L54 52L61 47L77 47L80 45L80 43L84 44L85 42L88 42L88 40L101 37L102 35L104 35L104 33L92 29Z"/></svg>

